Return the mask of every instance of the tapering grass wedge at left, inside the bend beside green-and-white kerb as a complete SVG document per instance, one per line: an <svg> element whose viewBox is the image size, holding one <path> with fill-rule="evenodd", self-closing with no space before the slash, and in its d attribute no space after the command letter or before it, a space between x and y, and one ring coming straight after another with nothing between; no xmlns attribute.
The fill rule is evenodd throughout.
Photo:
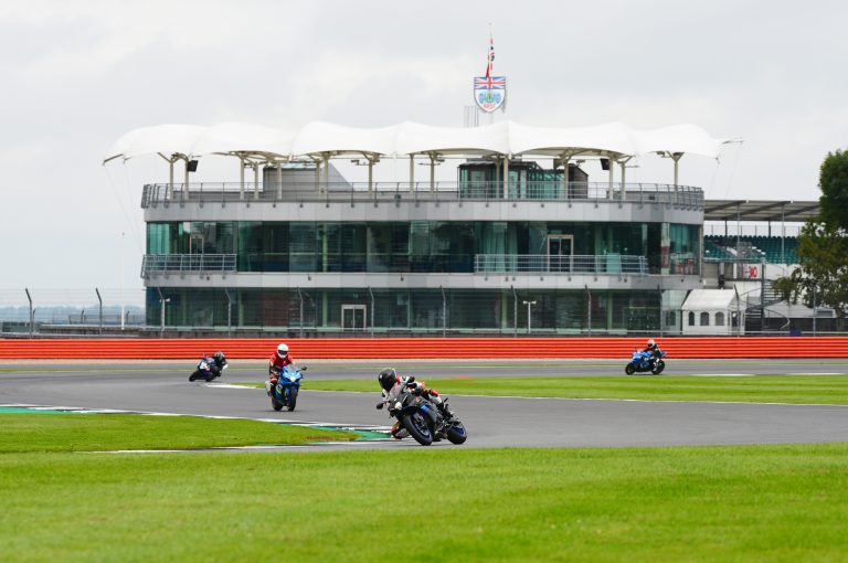
<svg viewBox="0 0 848 563"><path fill-rule="evenodd" d="M0 454L194 449L356 437L348 432L197 416L0 414Z"/></svg>

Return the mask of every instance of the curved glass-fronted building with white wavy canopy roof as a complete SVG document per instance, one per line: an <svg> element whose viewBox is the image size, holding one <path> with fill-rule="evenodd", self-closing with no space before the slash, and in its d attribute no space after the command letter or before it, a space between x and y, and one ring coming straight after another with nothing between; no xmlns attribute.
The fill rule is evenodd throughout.
<svg viewBox="0 0 848 563"><path fill-rule="evenodd" d="M159 155L169 166L141 198L149 325L679 333L689 293L721 284L713 258L739 263L723 240L704 247L703 221L706 208L740 219L742 202L711 212L700 188L677 182L683 156L716 157L722 142L693 126L168 125L128 132L106 161ZM644 155L666 157L671 181L628 183L627 161ZM239 181L193 181L212 157L229 157ZM455 180L436 181L445 159ZM335 166L351 161L367 182ZM386 182L381 167L409 172ZM785 262L792 248L781 252Z"/></svg>

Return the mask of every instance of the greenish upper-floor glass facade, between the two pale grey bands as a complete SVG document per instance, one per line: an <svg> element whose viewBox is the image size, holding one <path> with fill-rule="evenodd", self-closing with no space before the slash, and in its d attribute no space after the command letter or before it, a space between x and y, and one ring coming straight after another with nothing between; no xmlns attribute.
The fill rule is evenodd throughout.
<svg viewBox="0 0 848 563"><path fill-rule="evenodd" d="M239 272L471 273L475 256L645 256L650 274L699 274L700 225L533 221L147 224L147 254L233 254Z"/></svg>

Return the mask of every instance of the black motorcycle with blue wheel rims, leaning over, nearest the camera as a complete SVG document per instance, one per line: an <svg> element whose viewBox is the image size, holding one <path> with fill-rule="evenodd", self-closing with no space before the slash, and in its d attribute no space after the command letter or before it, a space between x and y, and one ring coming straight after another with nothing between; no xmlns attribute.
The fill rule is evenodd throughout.
<svg viewBox="0 0 848 563"><path fill-rule="evenodd" d="M445 411L447 400L444 400ZM438 407L420 394L407 389L400 392L396 397L384 397L378 408L389 406L389 415L398 419L400 436L404 431L422 446L430 446L433 442L447 438L452 444L463 444L468 438L465 425L453 413L444 416Z"/></svg>

